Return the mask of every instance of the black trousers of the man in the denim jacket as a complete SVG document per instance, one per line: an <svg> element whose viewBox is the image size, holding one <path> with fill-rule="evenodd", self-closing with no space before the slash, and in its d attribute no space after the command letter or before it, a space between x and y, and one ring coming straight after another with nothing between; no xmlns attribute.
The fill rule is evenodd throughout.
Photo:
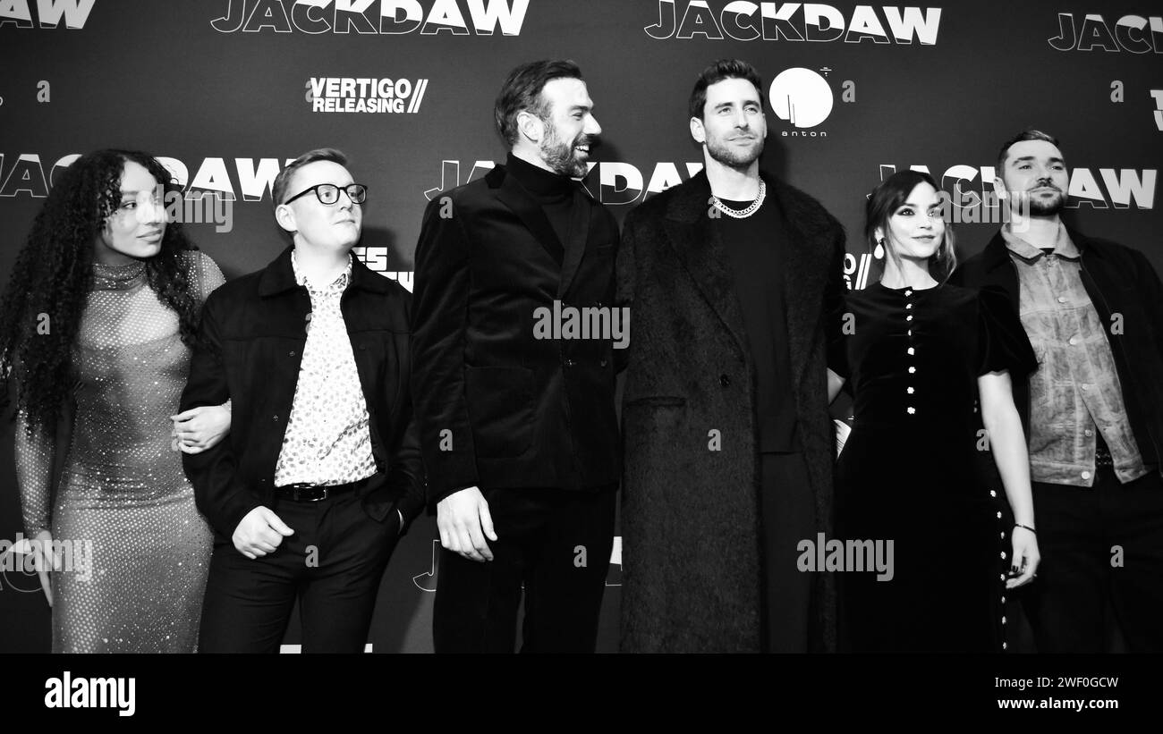
<svg viewBox="0 0 1163 734"><path fill-rule="evenodd" d="M1034 483L1042 555L1023 595L1039 653L1106 652L1107 600L1129 652L1163 653L1163 481Z"/></svg>

